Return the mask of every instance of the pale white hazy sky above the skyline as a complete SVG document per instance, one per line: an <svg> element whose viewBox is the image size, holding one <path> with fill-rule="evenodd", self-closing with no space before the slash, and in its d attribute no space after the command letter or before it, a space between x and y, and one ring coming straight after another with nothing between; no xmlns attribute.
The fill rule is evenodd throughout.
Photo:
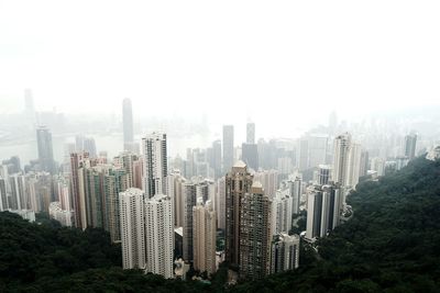
<svg viewBox="0 0 440 293"><path fill-rule="evenodd" d="M440 103L440 1L0 0L0 113L298 123Z"/></svg>

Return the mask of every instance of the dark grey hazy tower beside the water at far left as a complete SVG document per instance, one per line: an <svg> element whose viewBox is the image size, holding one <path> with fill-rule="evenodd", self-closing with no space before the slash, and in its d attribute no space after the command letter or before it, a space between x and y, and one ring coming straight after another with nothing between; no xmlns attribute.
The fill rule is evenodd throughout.
<svg viewBox="0 0 440 293"><path fill-rule="evenodd" d="M52 149L52 134L46 126L36 128L36 144L38 148L40 169L45 172L55 172L54 153Z"/></svg>

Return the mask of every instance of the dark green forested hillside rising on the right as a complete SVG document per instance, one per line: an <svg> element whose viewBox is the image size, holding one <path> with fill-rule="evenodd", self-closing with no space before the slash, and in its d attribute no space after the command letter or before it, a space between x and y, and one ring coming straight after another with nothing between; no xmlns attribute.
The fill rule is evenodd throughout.
<svg viewBox="0 0 440 293"><path fill-rule="evenodd" d="M233 292L440 292L440 161L417 158L348 199L354 215L296 272Z"/></svg>

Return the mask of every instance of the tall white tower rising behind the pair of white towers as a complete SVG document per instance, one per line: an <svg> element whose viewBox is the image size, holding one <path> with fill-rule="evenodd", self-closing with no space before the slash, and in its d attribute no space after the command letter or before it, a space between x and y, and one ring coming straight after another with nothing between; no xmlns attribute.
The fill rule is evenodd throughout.
<svg viewBox="0 0 440 293"><path fill-rule="evenodd" d="M147 199L156 194L167 194L168 158L166 134L152 133L142 138L144 182Z"/></svg>

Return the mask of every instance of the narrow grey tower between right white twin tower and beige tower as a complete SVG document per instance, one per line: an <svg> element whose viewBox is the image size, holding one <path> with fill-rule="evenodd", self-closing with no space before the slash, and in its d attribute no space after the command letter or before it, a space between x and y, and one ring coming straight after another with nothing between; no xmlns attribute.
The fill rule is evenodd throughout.
<svg viewBox="0 0 440 293"><path fill-rule="evenodd" d="M183 258L191 262L193 256L193 207L197 204L197 184L187 182L183 187L184 195L184 253Z"/></svg>

